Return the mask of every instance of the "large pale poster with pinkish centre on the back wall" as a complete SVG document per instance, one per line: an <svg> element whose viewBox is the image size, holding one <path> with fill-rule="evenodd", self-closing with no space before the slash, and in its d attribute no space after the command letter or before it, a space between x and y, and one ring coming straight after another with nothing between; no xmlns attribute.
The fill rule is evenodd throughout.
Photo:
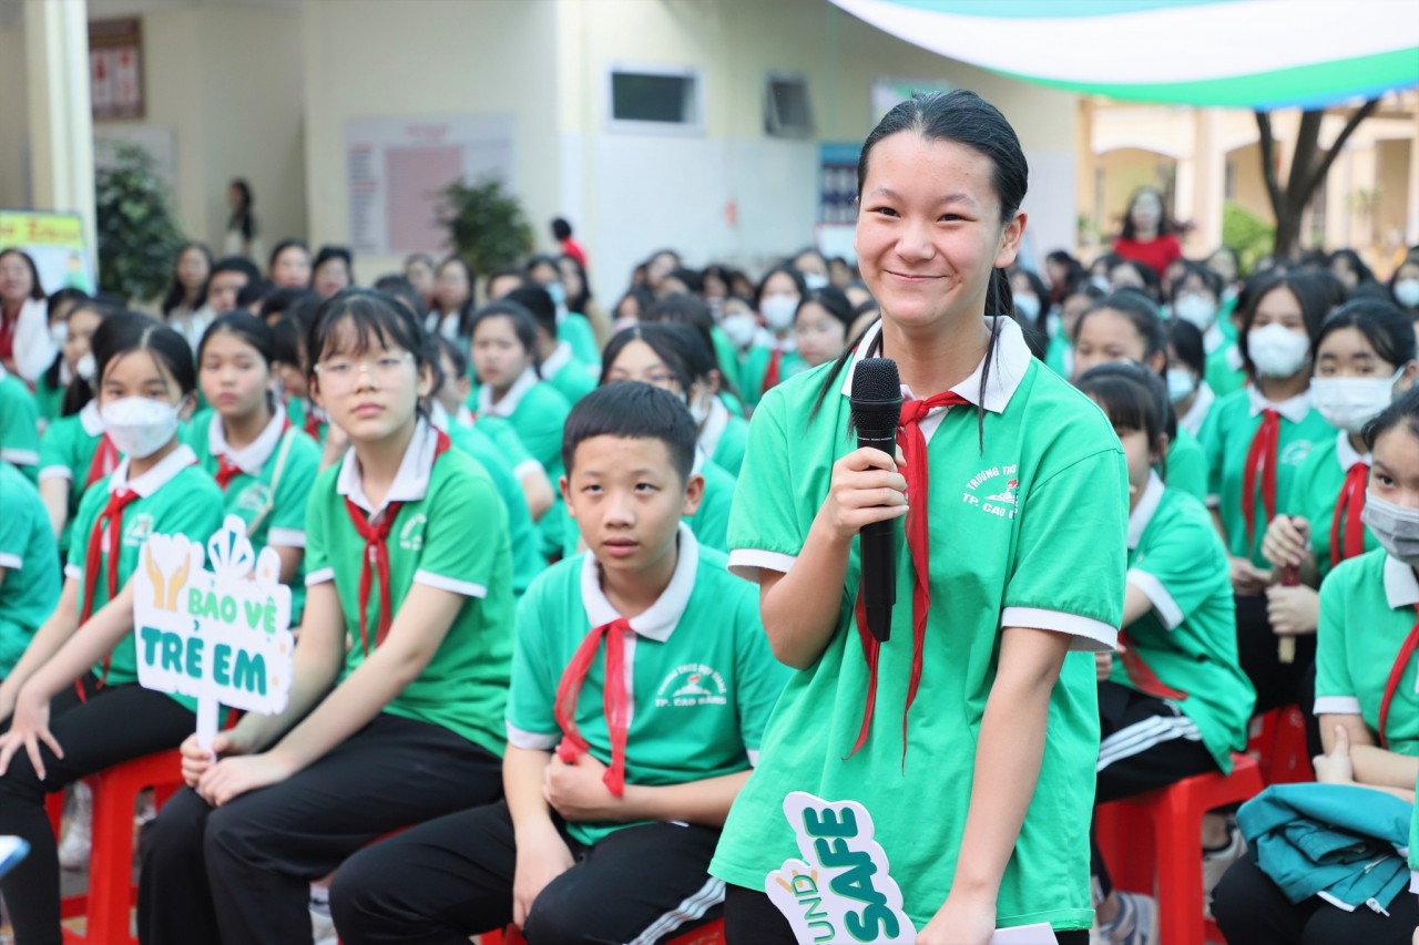
<svg viewBox="0 0 1419 945"><path fill-rule="evenodd" d="M373 118L345 123L350 248L376 255L444 253L438 192L501 177L514 189L511 115Z"/></svg>

